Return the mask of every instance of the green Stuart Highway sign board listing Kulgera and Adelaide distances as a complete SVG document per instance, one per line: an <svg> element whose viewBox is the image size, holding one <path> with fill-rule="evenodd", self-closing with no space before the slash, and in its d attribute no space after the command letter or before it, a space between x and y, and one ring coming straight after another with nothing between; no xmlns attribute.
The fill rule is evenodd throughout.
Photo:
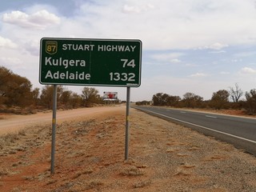
<svg viewBox="0 0 256 192"><path fill-rule="evenodd" d="M41 84L138 87L141 70L140 40L42 38L40 42Z"/></svg>

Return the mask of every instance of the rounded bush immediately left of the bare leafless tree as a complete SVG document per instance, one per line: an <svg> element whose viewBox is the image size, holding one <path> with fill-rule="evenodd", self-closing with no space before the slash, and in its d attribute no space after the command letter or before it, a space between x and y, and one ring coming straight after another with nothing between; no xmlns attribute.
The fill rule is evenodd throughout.
<svg viewBox="0 0 256 192"><path fill-rule="evenodd" d="M226 104L229 102L230 94L227 90L218 90L214 92L210 100L210 106L214 107L217 110L226 107Z"/></svg>

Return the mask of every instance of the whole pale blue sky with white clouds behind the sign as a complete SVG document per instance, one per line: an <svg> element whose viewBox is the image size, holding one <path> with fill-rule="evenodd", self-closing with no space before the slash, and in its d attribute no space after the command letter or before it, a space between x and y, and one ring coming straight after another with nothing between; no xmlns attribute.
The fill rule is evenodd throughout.
<svg viewBox="0 0 256 192"><path fill-rule="evenodd" d="M0 66L40 89L41 38L140 39L134 102L256 88L255 0L0 0ZM65 87L82 94L83 86ZM95 88L126 100L126 87Z"/></svg>

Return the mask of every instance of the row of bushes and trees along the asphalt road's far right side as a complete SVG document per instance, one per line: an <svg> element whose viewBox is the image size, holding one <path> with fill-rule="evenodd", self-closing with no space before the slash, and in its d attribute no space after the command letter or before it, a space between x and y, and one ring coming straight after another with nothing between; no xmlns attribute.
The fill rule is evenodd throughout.
<svg viewBox="0 0 256 192"><path fill-rule="evenodd" d="M242 98L244 96L244 98ZM175 95L154 94L152 101L136 102L137 105L170 106L177 108L197 108L213 110L242 110L246 114L256 114L256 89L244 91L235 83L229 90L218 90L212 94L210 100L187 92L183 98Z"/></svg>

